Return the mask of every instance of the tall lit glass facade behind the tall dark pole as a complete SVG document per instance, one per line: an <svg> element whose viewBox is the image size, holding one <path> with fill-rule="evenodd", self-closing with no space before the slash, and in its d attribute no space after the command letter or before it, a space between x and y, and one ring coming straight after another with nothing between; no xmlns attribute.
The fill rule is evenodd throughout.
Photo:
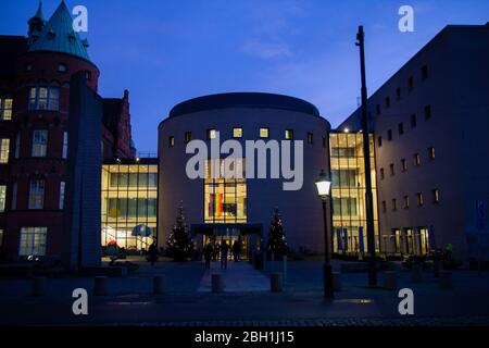
<svg viewBox="0 0 489 348"><path fill-rule="evenodd" d="M371 167L374 201L375 245L379 249L374 137L371 135ZM333 198L333 250L367 252L365 162L362 133L329 135Z"/></svg>

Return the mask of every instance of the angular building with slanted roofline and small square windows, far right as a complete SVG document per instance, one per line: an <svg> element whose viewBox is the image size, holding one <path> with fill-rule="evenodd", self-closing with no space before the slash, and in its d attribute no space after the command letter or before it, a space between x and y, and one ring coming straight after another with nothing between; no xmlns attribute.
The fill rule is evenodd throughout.
<svg viewBox="0 0 489 348"><path fill-rule="evenodd" d="M489 257L488 61L489 24L449 25L368 99L381 250Z"/></svg>

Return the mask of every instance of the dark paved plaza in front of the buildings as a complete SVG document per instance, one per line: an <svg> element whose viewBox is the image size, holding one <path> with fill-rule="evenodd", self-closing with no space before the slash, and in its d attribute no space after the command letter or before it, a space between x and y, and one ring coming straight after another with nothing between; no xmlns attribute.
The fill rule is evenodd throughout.
<svg viewBox="0 0 489 348"><path fill-rule="evenodd" d="M335 263L339 269L339 263ZM278 266L277 266L278 269ZM276 269L276 270L277 270ZM223 294L210 293L213 272L223 274ZM152 295L152 279L164 274L165 294ZM57 325L482 325L489 324L489 274L453 272L453 288L439 289L430 272L413 284L399 270L398 287L414 293L414 315L400 315L397 290L368 288L365 273L341 275L342 290L323 298L321 261L289 262L283 293L269 291L266 272L248 262L141 262L134 275L108 279L109 295L89 297L88 315L74 315L72 291L93 290L93 279L49 278L43 297L30 296L27 278L0 278L0 324ZM383 284L379 274L379 285Z"/></svg>

